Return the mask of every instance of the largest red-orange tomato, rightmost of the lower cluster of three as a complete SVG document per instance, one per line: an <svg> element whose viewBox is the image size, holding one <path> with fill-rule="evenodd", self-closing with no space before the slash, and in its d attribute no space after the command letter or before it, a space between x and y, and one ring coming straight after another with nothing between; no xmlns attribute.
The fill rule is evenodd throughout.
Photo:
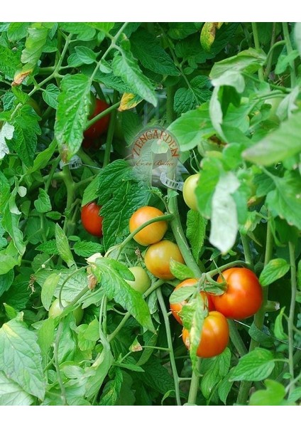
<svg viewBox="0 0 301 427"><path fill-rule="evenodd" d="M219 283L226 280L227 289L223 295L212 295L217 311L229 319L246 319L255 315L263 302L261 284L253 271L248 268L229 268L219 275Z"/></svg>

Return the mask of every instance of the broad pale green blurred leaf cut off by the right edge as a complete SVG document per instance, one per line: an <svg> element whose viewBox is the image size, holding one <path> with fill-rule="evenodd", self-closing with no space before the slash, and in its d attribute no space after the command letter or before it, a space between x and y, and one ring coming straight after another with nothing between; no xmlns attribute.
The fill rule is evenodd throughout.
<svg viewBox="0 0 301 427"><path fill-rule="evenodd" d="M243 157L250 162L268 166L282 162L301 152L300 141L301 112L290 115L274 132L270 132L260 142L246 149Z"/></svg>

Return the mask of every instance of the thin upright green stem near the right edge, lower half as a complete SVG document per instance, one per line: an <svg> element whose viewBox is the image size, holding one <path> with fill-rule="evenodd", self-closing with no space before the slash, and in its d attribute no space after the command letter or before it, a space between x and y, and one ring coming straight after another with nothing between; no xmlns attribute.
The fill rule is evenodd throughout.
<svg viewBox="0 0 301 427"><path fill-rule="evenodd" d="M288 317L288 360L290 369L290 394L295 389L294 381L294 317L295 317L295 304L297 295L297 281L296 281L296 264L295 264L295 245L292 242L288 243L290 251L290 315Z"/></svg>

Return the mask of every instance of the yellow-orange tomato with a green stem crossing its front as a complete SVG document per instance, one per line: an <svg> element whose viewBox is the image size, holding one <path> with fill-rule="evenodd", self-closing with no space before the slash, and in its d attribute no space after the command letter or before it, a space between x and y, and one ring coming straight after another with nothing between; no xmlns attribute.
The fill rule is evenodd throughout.
<svg viewBox="0 0 301 427"><path fill-rule="evenodd" d="M143 206L139 208L130 218L130 232L133 233L133 231L142 226L143 223L146 223L146 221L150 219L157 218L158 216L164 216L164 214L160 209L153 208L153 206ZM143 228L133 236L133 239L143 246L148 246L162 240L167 229L167 221L158 221Z"/></svg>

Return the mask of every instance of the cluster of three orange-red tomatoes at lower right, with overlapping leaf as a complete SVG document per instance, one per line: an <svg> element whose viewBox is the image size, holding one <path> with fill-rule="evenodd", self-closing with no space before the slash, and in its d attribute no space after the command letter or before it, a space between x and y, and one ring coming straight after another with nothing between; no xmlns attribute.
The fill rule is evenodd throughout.
<svg viewBox="0 0 301 427"><path fill-rule="evenodd" d="M261 284L253 271L248 268L229 268L217 278L218 283L226 282L226 290L221 295L200 292L208 315L204 318L202 334L197 348L198 357L214 357L224 352L229 342L229 325L226 320L241 320L254 315L263 301ZM175 290L182 287L196 288L197 279L187 279L177 285ZM193 291L192 291L193 293ZM170 302L170 310L182 325L181 311L187 301ZM190 348L190 334L184 328L182 339Z"/></svg>

